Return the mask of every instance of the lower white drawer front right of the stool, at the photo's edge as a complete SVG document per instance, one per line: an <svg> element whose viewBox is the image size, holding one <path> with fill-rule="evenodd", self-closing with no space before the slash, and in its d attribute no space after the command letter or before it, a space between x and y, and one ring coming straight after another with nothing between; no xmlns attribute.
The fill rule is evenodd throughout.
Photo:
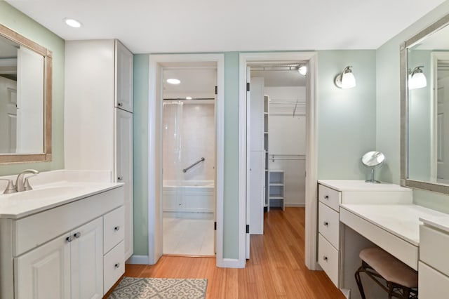
<svg viewBox="0 0 449 299"><path fill-rule="evenodd" d="M447 298L449 277L422 262L419 263L418 273L420 299Z"/></svg>

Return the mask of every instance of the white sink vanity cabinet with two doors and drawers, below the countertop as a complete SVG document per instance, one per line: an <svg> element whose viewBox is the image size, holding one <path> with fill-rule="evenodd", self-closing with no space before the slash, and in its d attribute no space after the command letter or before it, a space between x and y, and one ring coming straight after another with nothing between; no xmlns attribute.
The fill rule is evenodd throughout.
<svg viewBox="0 0 449 299"><path fill-rule="evenodd" d="M102 298L124 273L123 186L0 218L0 298Z"/></svg>

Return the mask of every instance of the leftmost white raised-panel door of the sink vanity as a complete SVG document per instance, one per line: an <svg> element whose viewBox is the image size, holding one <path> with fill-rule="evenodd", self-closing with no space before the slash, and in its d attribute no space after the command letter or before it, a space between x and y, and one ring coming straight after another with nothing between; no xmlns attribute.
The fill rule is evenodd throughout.
<svg viewBox="0 0 449 299"><path fill-rule="evenodd" d="M70 298L69 234L15 258L16 299Z"/></svg>

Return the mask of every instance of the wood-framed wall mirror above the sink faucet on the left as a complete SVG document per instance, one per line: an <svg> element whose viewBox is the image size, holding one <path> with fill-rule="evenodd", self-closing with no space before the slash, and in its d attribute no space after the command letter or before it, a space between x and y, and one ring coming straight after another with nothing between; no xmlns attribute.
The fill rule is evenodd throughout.
<svg viewBox="0 0 449 299"><path fill-rule="evenodd" d="M51 161L51 51L0 25L0 163Z"/></svg>

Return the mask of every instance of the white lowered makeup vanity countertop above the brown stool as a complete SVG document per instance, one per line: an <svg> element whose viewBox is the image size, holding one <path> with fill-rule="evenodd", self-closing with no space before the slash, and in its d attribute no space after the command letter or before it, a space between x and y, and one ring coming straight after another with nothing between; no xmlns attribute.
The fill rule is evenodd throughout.
<svg viewBox="0 0 449 299"><path fill-rule="evenodd" d="M416 204L341 204L342 208L387 230L410 244L420 246L421 222L436 222L449 231L449 215ZM425 219L425 220L424 220Z"/></svg>

